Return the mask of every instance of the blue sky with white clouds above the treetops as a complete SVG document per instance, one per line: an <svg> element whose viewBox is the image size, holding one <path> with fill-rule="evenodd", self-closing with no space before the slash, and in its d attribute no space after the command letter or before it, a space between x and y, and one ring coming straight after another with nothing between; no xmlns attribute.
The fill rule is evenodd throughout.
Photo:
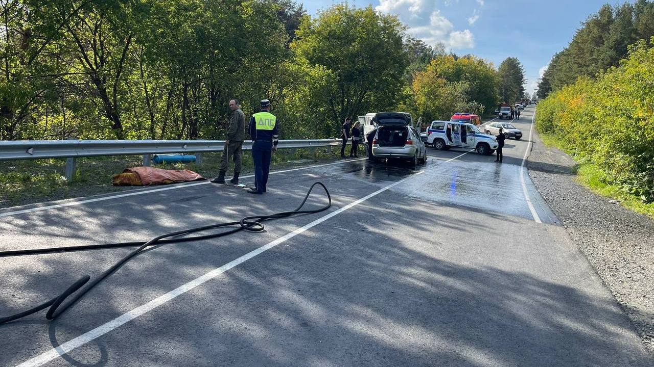
<svg viewBox="0 0 654 367"><path fill-rule="evenodd" d="M302 1L314 16L320 8L342 1ZM518 57L525 66L526 91L551 57L568 45L581 22L606 0L351 0L351 5L372 5L396 14L409 33L428 44L444 42L456 54L483 57L497 67L506 57ZM611 3L612 4L612 3Z"/></svg>

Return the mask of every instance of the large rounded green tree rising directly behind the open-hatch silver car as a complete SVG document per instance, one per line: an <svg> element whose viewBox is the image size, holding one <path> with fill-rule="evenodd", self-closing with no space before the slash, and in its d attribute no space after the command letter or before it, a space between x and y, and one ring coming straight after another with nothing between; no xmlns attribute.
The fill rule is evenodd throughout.
<svg viewBox="0 0 654 367"><path fill-rule="evenodd" d="M292 42L300 63L330 75L326 100L336 133L347 116L397 104L402 92L407 52L404 25L394 16L366 8L335 5L305 18Z"/></svg>

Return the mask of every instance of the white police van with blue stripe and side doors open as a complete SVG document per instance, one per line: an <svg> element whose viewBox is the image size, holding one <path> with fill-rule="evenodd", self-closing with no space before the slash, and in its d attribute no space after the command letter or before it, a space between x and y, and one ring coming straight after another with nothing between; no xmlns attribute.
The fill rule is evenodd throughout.
<svg viewBox="0 0 654 367"><path fill-rule="evenodd" d="M432 121L427 142L436 150L468 148L483 155L492 154L498 147L495 136L482 133L472 123L458 121Z"/></svg>

